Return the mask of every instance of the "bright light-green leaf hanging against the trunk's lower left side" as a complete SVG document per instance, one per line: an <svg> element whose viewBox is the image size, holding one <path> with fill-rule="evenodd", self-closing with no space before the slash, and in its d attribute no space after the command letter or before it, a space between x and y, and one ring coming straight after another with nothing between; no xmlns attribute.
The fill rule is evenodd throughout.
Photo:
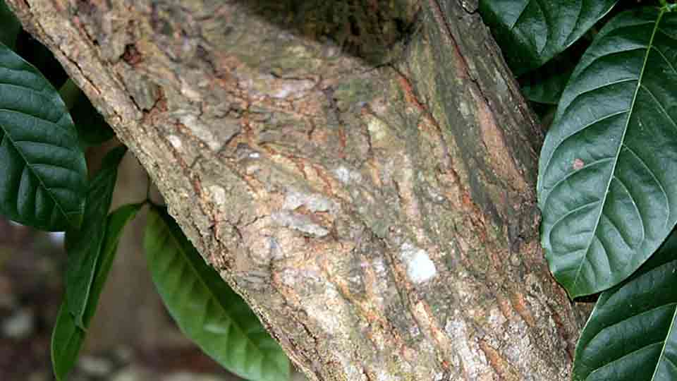
<svg viewBox="0 0 677 381"><path fill-rule="evenodd" d="M144 248L167 310L202 351L248 380L289 379L289 363L279 345L165 210L150 211Z"/></svg>

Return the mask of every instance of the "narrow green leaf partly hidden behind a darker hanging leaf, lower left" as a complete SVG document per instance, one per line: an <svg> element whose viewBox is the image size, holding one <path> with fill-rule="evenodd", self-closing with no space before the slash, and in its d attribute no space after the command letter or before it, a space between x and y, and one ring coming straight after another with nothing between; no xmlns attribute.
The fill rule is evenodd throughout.
<svg viewBox="0 0 677 381"><path fill-rule="evenodd" d="M90 298L87 300L83 316L83 326L85 329L89 327L92 317L94 317L94 312L99 303L99 296L101 296L101 291L104 288L106 279L108 279L123 229L128 222L134 219L142 206L143 204L123 205L118 207L114 212L111 212L106 219L106 236L100 255L101 258L97 262ZM51 362L56 380L65 380L68 372L75 366L80 347L83 345L85 335L87 334L85 329L75 324L75 318L68 311L68 301L64 299L63 303L61 303L61 308L59 308L59 315L56 316L56 324L51 334Z"/></svg>

